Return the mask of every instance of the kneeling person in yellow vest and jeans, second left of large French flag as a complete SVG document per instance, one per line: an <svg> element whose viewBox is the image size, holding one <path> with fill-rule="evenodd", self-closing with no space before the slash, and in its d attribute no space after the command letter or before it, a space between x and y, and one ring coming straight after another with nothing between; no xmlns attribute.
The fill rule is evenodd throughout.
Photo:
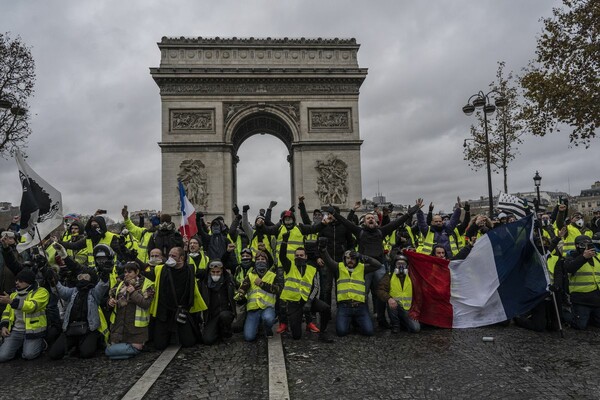
<svg viewBox="0 0 600 400"><path fill-rule="evenodd" d="M320 244L319 247L321 258L336 279L335 329L337 335L346 336L350 333L350 323L355 322L361 334L373 336L373 321L366 303L365 274L377 271L383 264L373 257L350 250L344 253L344 261L338 263L331 258L326 246Z"/></svg>

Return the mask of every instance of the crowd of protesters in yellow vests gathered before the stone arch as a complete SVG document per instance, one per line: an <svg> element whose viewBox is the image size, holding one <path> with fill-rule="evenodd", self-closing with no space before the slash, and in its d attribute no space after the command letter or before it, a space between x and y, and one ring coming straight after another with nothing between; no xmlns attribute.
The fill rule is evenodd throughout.
<svg viewBox="0 0 600 400"><path fill-rule="evenodd" d="M457 200L449 215L435 214L433 204L425 214L418 199L396 215L385 206L358 215L359 202L345 216L335 206L311 216L300 197L277 219L271 202L254 223L250 207L235 206L230 225L196 213L192 237L167 214L134 222L125 206L119 232L98 212L21 253L15 219L0 239L0 362L44 351L88 358L100 349L124 359L148 343L162 350L274 331L299 340L305 330L330 343L332 319L340 337L371 336L375 323L417 333L407 252L463 259L482 235L515 220L504 212L472 216ZM538 213L536 228L559 316L548 297L514 323L537 331L556 329L559 319L576 329L600 326L600 210L585 221L561 201Z"/></svg>

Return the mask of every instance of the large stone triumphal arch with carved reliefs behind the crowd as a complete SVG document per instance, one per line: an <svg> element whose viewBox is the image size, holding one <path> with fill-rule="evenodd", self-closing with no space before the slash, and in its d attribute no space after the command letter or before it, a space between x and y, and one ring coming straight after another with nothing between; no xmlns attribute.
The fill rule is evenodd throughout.
<svg viewBox="0 0 600 400"><path fill-rule="evenodd" d="M180 179L196 210L229 221L237 151L260 133L289 150L293 202L303 194L309 207L347 209L362 198L358 95L367 69L355 39L163 37L158 47L150 73L162 103L163 212L178 212Z"/></svg>

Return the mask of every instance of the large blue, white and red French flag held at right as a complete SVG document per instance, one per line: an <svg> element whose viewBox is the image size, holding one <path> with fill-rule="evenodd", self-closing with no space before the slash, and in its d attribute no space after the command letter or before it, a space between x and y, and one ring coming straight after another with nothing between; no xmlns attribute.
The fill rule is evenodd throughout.
<svg viewBox="0 0 600 400"><path fill-rule="evenodd" d="M477 240L464 260L412 251L410 315L442 328L475 328L531 310L547 295L545 262L533 244L533 215L501 225Z"/></svg>

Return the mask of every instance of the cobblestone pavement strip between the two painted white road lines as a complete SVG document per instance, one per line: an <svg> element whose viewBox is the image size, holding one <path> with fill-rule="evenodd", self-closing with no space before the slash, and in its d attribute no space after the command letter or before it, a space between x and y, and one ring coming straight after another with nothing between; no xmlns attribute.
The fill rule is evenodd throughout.
<svg viewBox="0 0 600 400"><path fill-rule="evenodd" d="M181 349L145 399L268 399L267 343L227 343Z"/></svg>

